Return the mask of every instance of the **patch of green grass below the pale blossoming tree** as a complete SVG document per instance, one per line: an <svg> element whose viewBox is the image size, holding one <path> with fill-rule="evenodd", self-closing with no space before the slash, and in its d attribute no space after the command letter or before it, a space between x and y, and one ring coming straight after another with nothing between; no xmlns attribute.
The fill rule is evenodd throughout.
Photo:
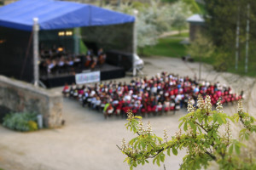
<svg viewBox="0 0 256 170"><path fill-rule="evenodd" d="M143 54L146 56L158 55L167 57L181 57L186 54L186 48L180 42L184 37L189 37L188 33L181 33L181 35L173 35L170 37L160 38L159 42L152 46L143 49Z"/></svg>

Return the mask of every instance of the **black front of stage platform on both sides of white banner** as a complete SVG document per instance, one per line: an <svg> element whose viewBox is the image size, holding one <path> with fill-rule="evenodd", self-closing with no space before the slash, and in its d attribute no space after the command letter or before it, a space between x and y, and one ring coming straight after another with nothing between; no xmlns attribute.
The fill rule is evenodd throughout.
<svg viewBox="0 0 256 170"><path fill-rule="evenodd" d="M125 77L125 69L119 66L104 64L102 67L96 67L94 70L84 70L84 72L100 71L101 81ZM77 73L82 73L77 72ZM59 74L59 75L49 75L40 77L41 82L47 88L55 88L64 86L67 82L68 84L75 83L75 75L73 74Z"/></svg>

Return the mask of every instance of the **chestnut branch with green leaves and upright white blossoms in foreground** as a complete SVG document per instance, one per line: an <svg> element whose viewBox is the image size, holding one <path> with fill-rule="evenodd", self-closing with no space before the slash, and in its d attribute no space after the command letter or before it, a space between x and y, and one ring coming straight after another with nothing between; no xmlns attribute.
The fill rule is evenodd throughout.
<svg viewBox="0 0 256 170"><path fill-rule="evenodd" d="M256 169L256 163L251 156L238 157L241 147L245 147L242 141L248 140L250 134L256 132L256 126L253 125L255 119L243 111L241 101L238 103L237 113L233 116L223 112L220 101L216 111L212 111L209 96L205 100L200 96L197 108L195 110L189 103L189 113L179 120L179 127L184 132L180 129L170 140L167 140L166 130L164 139L161 139L153 133L149 122L145 129L142 117L133 116L132 112L128 111L128 123L125 126L137 134L137 137L131 139L128 144L123 139L122 146L118 147L127 156L125 161L130 168L148 163L149 158L153 158L153 163L160 166L166 155L177 156L177 150L187 150L180 169L207 168L210 161L216 161L219 169ZM241 122L243 128L240 131L240 140L232 138L230 122ZM220 129L225 129L224 133L220 133Z"/></svg>

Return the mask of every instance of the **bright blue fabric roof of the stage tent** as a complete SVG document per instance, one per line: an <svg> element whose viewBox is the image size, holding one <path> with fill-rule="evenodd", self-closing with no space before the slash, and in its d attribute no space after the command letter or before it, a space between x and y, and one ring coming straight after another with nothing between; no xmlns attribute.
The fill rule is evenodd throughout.
<svg viewBox="0 0 256 170"><path fill-rule="evenodd" d="M135 21L131 15L90 4L54 0L20 0L0 8L0 26L32 31L33 18L38 18L40 30L108 26Z"/></svg>

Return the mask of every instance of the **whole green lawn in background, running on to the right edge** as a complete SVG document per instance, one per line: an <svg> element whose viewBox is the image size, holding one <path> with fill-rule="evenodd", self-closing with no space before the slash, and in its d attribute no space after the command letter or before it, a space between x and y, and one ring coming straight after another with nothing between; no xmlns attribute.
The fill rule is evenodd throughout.
<svg viewBox="0 0 256 170"><path fill-rule="evenodd" d="M183 55L186 55L186 47L185 45L181 44L180 42L185 38L189 37L189 33L182 33L181 35L173 35L170 37L160 38L159 42L152 46L146 47L143 49L143 54L145 56L166 56L166 57L175 57L179 58ZM256 43L252 43L250 47L253 47ZM248 76L248 77L256 77L256 58L253 57L256 55L256 51L250 51L249 53L249 62L248 62L248 72L245 73L245 59L244 56L241 56L241 59L238 63L238 70L235 69L235 54L230 54L228 59L225 59L225 63L227 64L224 66L225 71L235 73L241 76ZM245 54L243 50L241 50L241 54ZM202 62L207 63L209 65L215 65L218 63L218 59L216 56L218 53L214 53L212 57L203 58L201 59ZM195 61L200 61L199 58L195 58Z"/></svg>

